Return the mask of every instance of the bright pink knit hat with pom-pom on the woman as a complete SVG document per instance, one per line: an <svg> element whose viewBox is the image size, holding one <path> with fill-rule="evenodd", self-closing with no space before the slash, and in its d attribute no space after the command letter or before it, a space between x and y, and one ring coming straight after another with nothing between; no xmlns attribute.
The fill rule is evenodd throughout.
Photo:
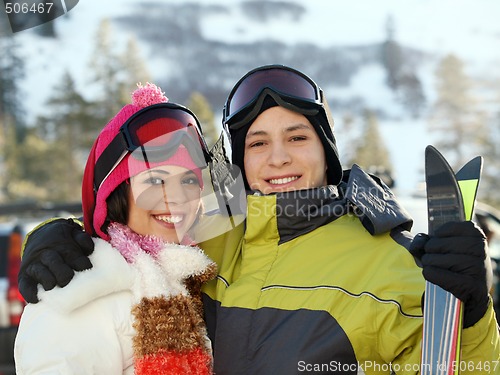
<svg viewBox="0 0 500 375"><path fill-rule="evenodd" d="M145 170L160 166L160 165L176 165L192 170L201 187L203 187L202 173L200 165L197 165L191 157L188 149L180 145L175 153L166 160L151 161L139 160L131 157L128 152L125 157L119 161L118 165L111 169L111 172L104 177L100 186L95 186L95 175L102 174L102 170L96 166L99 157L106 151L111 142L120 133L120 127L130 119L138 111L152 105L167 103L168 98L161 89L151 83L146 86L138 85L138 89L132 94L132 104L127 104L113 117L101 131L94 142L92 149L85 166L82 182L82 206L85 230L93 235L109 240L109 236L101 229L107 216L106 199L109 195L128 178L137 175ZM175 104L174 104L175 105ZM141 116L141 115L139 115ZM148 126L144 127L147 134L142 134L146 139L160 140L161 142L168 141L169 133L176 130L185 129L186 125L174 118L153 118L147 121ZM143 129L137 130L138 132ZM200 140L201 142L201 140ZM200 148L206 147L204 144L199 145ZM118 162L118 160L112 160ZM95 191L97 190L97 193Z"/></svg>

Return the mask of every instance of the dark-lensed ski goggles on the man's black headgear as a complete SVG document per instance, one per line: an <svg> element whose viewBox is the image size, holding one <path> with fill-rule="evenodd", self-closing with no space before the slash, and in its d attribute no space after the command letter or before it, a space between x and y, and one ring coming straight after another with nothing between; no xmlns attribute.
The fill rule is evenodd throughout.
<svg viewBox="0 0 500 375"><path fill-rule="evenodd" d="M251 70L233 87L223 109L224 125L229 129L246 125L249 115L260 111L256 103L263 92L280 105L323 106L323 92L311 78L284 65L266 65Z"/></svg>

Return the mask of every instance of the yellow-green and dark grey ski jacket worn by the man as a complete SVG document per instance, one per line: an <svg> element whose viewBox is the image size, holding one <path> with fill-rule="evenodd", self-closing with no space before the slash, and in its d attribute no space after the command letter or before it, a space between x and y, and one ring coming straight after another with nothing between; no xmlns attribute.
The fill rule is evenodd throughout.
<svg viewBox="0 0 500 375"><path fill-rule="evenodd" d="M203 290L215 373L418 374L425 282L410 227L357 167L338 189L248 196L246 222L203 244L219 265ZM492 313L465 330L464 359L498 353Z"/></svg>

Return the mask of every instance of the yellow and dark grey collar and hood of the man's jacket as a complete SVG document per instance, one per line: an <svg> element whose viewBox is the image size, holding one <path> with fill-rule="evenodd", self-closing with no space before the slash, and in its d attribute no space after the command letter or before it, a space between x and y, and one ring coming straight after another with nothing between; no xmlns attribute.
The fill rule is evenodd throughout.
<svg viewBox="0 0 500 375"><path fill-rule="evenodd" d="M269 228L277 228L278 242L284 243L347 214L357 216L372 235L396 227L410 230L413 224L411 216L383 181L356 164L344 171L338 186L267 196L255 192L248 196L247 204L247 240L265 233L272 237Z"/></svg>

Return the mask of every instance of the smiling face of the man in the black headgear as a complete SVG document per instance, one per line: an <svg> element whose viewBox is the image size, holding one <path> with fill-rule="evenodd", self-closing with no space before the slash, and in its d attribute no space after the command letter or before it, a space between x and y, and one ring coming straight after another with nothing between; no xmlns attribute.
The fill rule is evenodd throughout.
<svg viewBox="0 0 500 375"><path fill-rule="evenodd" d="M245 138L245 175L264 194L326 185L325 152L307 118L283 107L262 112Z"/></svg>

